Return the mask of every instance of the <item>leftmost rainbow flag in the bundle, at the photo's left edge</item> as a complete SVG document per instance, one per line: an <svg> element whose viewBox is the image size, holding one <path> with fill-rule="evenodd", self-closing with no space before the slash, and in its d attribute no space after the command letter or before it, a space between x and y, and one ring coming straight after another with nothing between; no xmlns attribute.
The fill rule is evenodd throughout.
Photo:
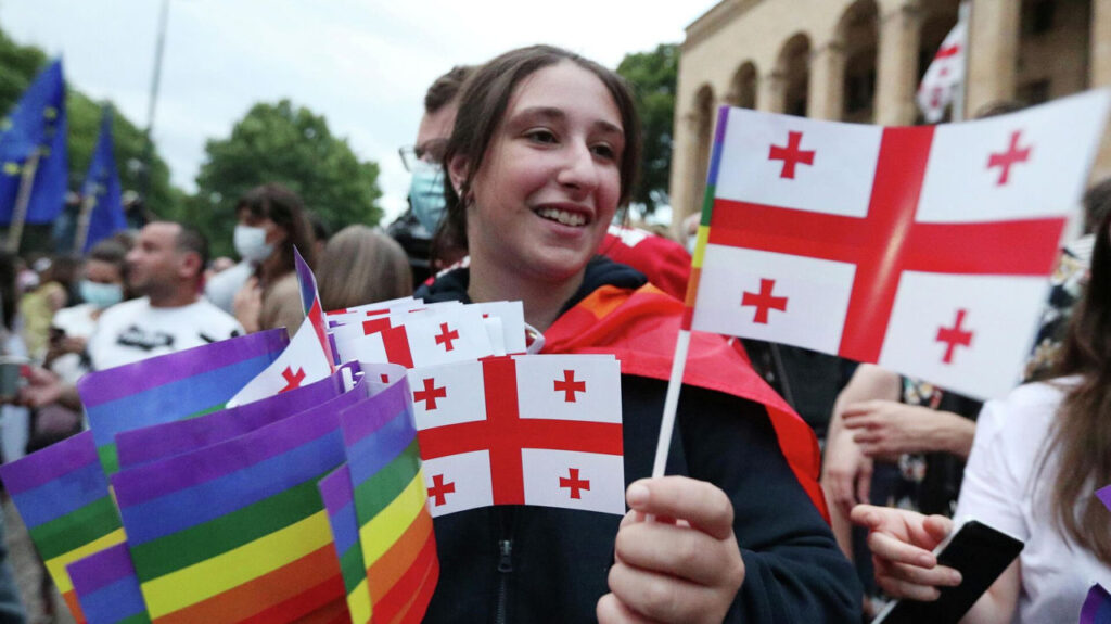
<svg viewBox="0 0 1111 624"><path fill-rule="evenodd" d="M124 541L92 432L0 466L0 479L74 620L86 622L66 566Z"/></svg>

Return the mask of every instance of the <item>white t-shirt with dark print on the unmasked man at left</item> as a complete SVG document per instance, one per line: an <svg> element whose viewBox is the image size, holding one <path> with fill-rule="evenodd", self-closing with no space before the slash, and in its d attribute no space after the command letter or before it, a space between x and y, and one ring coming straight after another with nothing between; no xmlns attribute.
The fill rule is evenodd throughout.
<svg viewBox="0 0 1111 624"><path fill-rule="evenodd" d="M106 310L88 352L92 369L103 371L242 333L234 316L203 298L179 308L151 308L143 296Z"/></svg>

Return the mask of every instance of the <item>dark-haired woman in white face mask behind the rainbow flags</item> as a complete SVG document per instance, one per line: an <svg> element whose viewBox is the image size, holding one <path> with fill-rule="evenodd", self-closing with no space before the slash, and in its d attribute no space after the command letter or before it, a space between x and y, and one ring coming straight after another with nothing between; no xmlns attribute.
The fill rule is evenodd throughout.
<svg viewBox="0 0 1111 624"><path fill-rule="evenodd" d="M287 328L293 333L304 318L293 248L310 268L317 258L301 198L281 184L263 184L239 200L236 215L236 250L254 266L236 293L236 319L248 332Z"/></svg>

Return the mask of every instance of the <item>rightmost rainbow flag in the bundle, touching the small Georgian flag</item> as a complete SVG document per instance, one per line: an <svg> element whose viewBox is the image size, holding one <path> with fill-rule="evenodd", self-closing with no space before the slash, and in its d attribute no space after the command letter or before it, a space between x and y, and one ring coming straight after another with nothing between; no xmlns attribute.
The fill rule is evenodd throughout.
<svg viewBox="0 0 1111 624"><path fill-rule="evenodd" d="M340 414L372 622L420 622L440 577L409 384Z"/></svg>

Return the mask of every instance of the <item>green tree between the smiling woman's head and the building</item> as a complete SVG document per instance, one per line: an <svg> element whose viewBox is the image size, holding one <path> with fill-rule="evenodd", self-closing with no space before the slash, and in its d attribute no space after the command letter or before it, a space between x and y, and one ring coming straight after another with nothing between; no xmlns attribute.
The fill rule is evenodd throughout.
<svg viewBox="0 0 1111 624"><path fill-rule="evenodd" d="M637 110L643 123L644 153L632 203L644 214L667 204L671 175L671 142L679 79L679 47L661 43L651 52L625 54L618 73L632 84Z"/></svg>

